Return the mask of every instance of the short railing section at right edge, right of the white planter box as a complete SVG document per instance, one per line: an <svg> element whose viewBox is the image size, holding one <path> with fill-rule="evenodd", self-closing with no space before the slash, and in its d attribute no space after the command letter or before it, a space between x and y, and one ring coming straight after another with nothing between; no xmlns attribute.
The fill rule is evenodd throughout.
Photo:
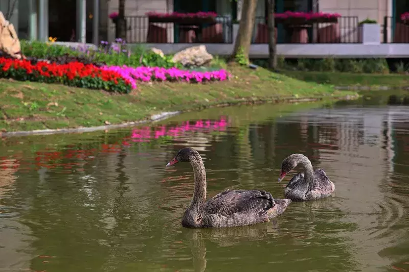
<svg viewBox="0 0 409 272"><path fill-rule="evenodd" d="M384 43L409 43L409 23L400 18L385 16L382 29Z"/></svg>

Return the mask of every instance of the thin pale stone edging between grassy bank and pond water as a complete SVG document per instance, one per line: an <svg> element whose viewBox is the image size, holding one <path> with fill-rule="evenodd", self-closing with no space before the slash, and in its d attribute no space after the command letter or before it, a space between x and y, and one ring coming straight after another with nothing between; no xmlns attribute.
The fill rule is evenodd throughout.
<svg viewBox="0 0 409 272"><path fill-rule="evenodd" d="M346 96L322 96L322 97L305 97L305 98L296 98L296 97L287 97L287 98L277 98L277 97L263 97L263 98L242 98L242 100L237 100L236 102L231 103L219 103L214 104L206 107L202 107L201 109L205 108L215 108L215 107L228 107L228 106L236 106L236 105L243 105L243 104L262 104L262 103L278 103L278 102L286 102L286 103L299 103L299 102L315 102L321 101L325 98L330 98L331 100L353 100L358 98L359 95L346 95ZM29 136L29 135L47 135L47 134L61 134L61 133L84 133L84 132L94 132L94 131L101 131L101 130L110 130L110 129L119 129L119 128L126 128L131 126L138 126L143 123L148 122L155 122L167 119L169 117L189 112L194 109L184 110L184 111L171 111L171 112L161 112L159 114L154 114L150 116L148 119L139 120L139 121L131 121L131 122L124 122L117 125L106 125L106 126L98 126L98 127L80 127L80 128L70 128L70 129L46 129L46 130L32 130L32 131L11 131L11 132L0 132L1 137L12 137L12 136Z"/></svg>

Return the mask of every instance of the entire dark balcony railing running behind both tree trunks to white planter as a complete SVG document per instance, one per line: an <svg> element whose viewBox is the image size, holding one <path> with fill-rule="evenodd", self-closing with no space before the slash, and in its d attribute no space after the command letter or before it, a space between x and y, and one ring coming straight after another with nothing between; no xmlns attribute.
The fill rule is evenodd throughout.
<svg viewBox="0 0 409 272"><path fill-rule="evenodd" d="M233 43L230 16L216 17L214 24L186 26L179 23L149 23L147 16L127 16L127 41L130 43ZM343 16L337 23L313 23L312 26L277 26L277 43L358 43L357 16ZM256 17L252 43L268 43L264 17Z"/></svg>

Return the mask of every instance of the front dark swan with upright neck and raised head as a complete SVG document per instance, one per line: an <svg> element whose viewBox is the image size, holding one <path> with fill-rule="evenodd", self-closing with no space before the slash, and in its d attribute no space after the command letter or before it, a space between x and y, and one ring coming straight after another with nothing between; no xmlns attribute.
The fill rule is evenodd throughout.
<svg viewBox="0 0 409 272"><path fill-rule="evenodd" d="M268 222L291 203L289 199L273 199L264 190L226 190L206 202L206 171L199 153L186 147L166 166L177 162L190 162L195 179L193 199L181 222L183 227L223 228Z"/></svg>

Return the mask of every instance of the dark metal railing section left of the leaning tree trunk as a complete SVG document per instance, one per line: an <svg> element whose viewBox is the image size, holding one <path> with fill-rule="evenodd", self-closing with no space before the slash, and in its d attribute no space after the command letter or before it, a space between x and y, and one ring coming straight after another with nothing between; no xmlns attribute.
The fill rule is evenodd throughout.
<svg viewBox="0 0 409 272"><path fill-rule="evenodd" d="M217 16L215 23L200 25L149 23L148 16L126 16L125 19L129 43L233 43L229 16Z"/></svg>

